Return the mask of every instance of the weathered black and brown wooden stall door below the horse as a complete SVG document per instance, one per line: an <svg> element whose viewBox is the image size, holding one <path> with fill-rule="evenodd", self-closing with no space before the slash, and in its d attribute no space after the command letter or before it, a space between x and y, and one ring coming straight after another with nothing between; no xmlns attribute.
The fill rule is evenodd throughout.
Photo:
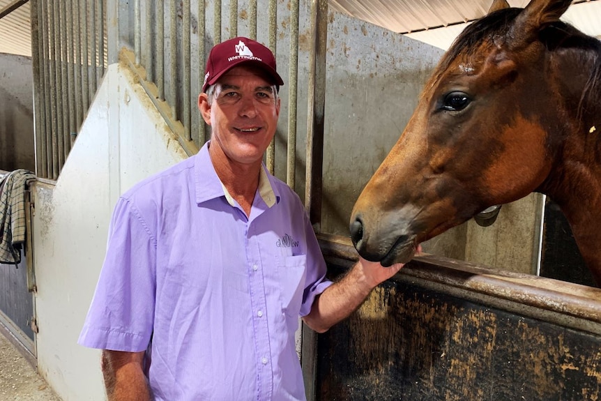
<svg viewBox="0 0 601 401"><path fill-rule="evenodd" d="M348 266L327 253L332 273ZM601 400L598 289L430 262L319 335L316 400ZM437 269L455 277L418 277Z"/></svg>

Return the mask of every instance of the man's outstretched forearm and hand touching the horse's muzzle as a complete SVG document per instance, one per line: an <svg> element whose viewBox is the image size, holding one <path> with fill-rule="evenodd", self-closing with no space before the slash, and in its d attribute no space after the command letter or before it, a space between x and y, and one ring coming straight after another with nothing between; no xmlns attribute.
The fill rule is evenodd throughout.
<svg viewBox="0 0 601 401"><path fill-rule="evenodd" d="M345 319L365 301L372 289L400 271L403 264L383 267L379 262L369 262L359 257L342 280L335 282L313 302L309 315L303 321L317 333Z"/></svg>

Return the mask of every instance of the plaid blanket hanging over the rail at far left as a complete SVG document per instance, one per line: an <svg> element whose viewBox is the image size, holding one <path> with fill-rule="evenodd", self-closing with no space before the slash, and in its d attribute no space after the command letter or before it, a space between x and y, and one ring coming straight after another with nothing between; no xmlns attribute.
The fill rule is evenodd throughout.
<svg viewBox="0 0 601 401"><path fill-rule="evenodd" d="M25 242L25 189L36 175L18 169L0 180L0 263L19 264Z"/></svg>

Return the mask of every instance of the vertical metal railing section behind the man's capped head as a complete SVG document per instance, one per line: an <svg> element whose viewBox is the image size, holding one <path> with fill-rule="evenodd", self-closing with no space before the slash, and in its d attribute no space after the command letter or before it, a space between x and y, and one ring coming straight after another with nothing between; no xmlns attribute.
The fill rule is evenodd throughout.
<svg viewBox="0 0 601 401"><path fill-rule="evenodd" d="M209 137L197 109L197 97L211 47L229 38L247 36L272 50L280 75L288 73L280 89L287 100L287 106L282 107L287 115L280 114L278 135L266 152L266 165L272 173L277 167L282 179L295 188L300 142L297 133L306 129L305 204L319 229L328 2L109 0L108 8L116 10L109 12L109 62L121 58L137 73L188 155L196 153ZM302 51L301 29L305 32ZM299 70L305 75L299 77ZM303 96L307 98L299 96L300 82L305 83L307 95L303 92ZM303 111L305 105L307 121L298 121L298 111ZM304 133L301 137L305 138ZM282 142L277 146L282 155L276 158L278 140Z"/></svg>

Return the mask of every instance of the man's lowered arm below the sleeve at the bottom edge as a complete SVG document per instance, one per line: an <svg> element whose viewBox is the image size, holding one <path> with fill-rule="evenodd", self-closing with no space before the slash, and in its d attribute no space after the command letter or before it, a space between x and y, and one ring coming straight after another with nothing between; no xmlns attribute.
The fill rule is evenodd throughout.
<svg viewBox="0 0 601 401"><path fill-rule="evenodd" d="M102 376L109 401L150 401L144 375L144 351L102 350Z"/></svg>

